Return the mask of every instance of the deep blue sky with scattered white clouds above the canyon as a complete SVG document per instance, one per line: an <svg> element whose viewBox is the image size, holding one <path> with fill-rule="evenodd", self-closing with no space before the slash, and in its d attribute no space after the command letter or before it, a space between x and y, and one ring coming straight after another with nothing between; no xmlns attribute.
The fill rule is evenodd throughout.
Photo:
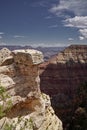
<svg viewBox="0 0 87 130"><path fill-rule="evenodd" d="M0 0L0 45L87 44L87 0Z"/></svg>

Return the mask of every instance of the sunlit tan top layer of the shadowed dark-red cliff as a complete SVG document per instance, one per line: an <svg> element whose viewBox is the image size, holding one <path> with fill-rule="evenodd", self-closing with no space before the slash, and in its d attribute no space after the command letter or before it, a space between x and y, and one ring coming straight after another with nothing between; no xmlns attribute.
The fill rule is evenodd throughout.
<svg viewBox="0 0 87 130"><path fill-rule="evenodd" d="M71 45L57 55L58 63L87 63L87 46Z"/></svg>

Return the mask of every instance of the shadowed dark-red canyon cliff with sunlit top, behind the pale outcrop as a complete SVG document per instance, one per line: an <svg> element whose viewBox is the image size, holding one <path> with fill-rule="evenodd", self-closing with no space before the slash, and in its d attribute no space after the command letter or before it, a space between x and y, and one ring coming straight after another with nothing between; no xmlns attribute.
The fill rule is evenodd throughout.
<svg viewBox="0 0 87 130"><path fill-rule="evenodd" d="M52 105L64 124L73 115L78 86L87 81L87 46L71 45L40 65L41 90L52 97Z"/></svg>

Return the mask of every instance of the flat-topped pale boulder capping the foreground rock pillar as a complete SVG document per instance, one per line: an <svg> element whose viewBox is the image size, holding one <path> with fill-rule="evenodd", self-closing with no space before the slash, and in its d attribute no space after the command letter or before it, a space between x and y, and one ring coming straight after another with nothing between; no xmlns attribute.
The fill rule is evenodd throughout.
<svg viewBox="0 0 87 130"><path fill-rule="evenodd" d="M37 50L15 50L12 52L14 60L18 64L38 65L43 62L43 55ZM20 65L19 65L20 66Z"/></svg>

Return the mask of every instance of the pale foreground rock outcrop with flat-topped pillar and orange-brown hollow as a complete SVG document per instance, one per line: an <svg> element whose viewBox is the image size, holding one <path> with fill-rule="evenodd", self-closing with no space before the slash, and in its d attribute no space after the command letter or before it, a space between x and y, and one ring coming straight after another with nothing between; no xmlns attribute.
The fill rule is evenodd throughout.
<svg viewBox="0 0 87 130"><path fill-rule="evenodd" d="M0 67L0 130L62 130L49 96L40 91L42 53L15 50L12 57Z"/></svg>

